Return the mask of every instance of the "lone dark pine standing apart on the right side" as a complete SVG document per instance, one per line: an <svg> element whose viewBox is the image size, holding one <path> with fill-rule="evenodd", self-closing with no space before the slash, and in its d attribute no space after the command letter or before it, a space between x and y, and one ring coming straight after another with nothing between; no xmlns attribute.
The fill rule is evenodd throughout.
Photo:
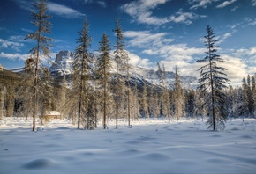
<svg viewBox="0 0 256 174"><path fill-rule="evenodd" d="M227 69L217 66L218 62L224 62L220 55L215 54L217 52L218 46L215 43L219 40L215 39L215 33L210 26L207 26L207 35L205 38L205 46L207 46L206 57L204 59L198 60L197 62L206 65L202 66L200 70L199 83L200 89L203 92L210 92L210 103L209 111L210 119L207 121L209 127L213 127L213 130L223 129L225 127L226 116L225 112L222 111L222 105L225 101L225 95L222 89L227 88L229 79L223 77L226 76L224 71ZM208 127L208 128L209 128Z"/></svg>

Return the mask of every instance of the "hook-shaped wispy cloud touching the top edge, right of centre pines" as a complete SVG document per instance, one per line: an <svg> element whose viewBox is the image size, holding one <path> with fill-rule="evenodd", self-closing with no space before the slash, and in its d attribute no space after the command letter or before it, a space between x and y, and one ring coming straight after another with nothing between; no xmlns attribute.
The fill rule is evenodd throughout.
<svg viewBox="0 0 256 174"><path fill-rule="evenodd" d="M139 24L163 25L170 22L192 24L192 19L198 18L198 15L192 12L178 11L175 15L169 17L155 17L152 10L161 4L166 4L169 0L139 0L132 3L124 4L121 10L129 14L133 21Z"/></svg>

